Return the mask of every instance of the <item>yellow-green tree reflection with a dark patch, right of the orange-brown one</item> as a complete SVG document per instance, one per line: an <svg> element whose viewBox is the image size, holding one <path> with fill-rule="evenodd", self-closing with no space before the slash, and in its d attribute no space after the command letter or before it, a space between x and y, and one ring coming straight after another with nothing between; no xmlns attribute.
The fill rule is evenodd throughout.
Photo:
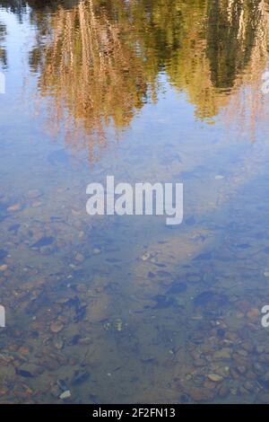
<svg viewBox="0 0 269 422"><path fill-rule="evenodd" d="M255 75L260 80L256 71L247 75L246 71L253 57L258 68L265 68L268 11L263 0L197 3L200 8L195 13L185 5L181 49L166 69L170 82L187 92L195 115L212 119L227 108L243 75L244 84L252 84Z"/></svg>

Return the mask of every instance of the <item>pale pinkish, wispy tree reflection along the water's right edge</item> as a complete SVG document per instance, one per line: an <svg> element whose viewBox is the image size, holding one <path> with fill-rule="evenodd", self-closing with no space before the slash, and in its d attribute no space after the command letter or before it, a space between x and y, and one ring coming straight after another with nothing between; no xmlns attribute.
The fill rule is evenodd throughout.
<svg viewBox="0 0 269 422"><path fill-rule="evenodd" d="M257 19L252 23L252 27L256 30L255 37L250 37L252 33L250 29L247 37L247 23L244 24L242 17L239 29L239 35L243 36L244 40L248 40L251 51L248 52L248 44L245 45L246 63L242 66L241 72L238 67L238 75L235 77L229 104L222 113L229 126L230 124L237 125L240 133L245 132L252 141L255 141L257 130L262 129L263 123L268 122L269 117L269 97L261 93L263 75L268 65L269 4L264 0L254 3L256 3ZM246 21L250 12L245 13ZM248 28L250 27L249 22Z"/></svg>

